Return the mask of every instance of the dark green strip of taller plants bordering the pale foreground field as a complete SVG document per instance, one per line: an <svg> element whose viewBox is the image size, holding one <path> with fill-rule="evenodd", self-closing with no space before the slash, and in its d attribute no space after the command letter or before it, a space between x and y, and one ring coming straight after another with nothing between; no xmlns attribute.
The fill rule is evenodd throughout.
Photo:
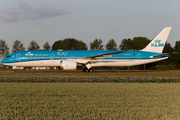
<svg viewBox="0 0 180 120"><path fill-rule="evenodd" d="M180 77L95 75L0 75L0 82L16 83L180 83Z"/></svg>

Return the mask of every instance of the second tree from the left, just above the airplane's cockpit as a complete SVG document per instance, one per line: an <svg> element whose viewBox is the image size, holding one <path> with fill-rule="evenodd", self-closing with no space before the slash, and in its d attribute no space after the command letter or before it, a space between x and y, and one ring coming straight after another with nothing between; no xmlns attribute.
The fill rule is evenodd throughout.
<svg viewBox="0 0 180 120"><path fill-rule="evenodd" d="M14 44L12 45L12 52L24 51L26 48L23 47L23 44L19 40L15 40Z"/></svg>

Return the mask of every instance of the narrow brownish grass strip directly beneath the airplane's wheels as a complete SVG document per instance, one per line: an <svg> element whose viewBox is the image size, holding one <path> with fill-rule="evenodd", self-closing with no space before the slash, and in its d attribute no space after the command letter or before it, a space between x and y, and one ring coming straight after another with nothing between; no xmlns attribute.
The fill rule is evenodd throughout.
<svg viewBox="0 0 180 120"><path fill-rule="evenodd" d="M159 77L180 77L180 70L149 71L149 70L95 70L93 73L84 73L82 70L0 70L0 75L85 75L85 76L159 76Z"/></svg>

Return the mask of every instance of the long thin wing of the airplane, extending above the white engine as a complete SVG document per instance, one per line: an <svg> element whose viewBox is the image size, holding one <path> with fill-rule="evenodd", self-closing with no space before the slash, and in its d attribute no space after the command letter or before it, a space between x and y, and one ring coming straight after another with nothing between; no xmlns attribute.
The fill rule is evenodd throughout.
<svg viewBox="0 0 180 120"><path fill-rule="evenodd" d="M123 53L123 52L127 52L127 51L128 50L122 50L122 51L118 51L118 52L112 52L112 53L106 53L106 54L100 54L100 55L95 55L95 56L84 57L84 58L78 59L77 62L86 64L87 62L95 62L100 58L108 57L108 56L111 56L111 55L114 55L114 54Z"/></svg>

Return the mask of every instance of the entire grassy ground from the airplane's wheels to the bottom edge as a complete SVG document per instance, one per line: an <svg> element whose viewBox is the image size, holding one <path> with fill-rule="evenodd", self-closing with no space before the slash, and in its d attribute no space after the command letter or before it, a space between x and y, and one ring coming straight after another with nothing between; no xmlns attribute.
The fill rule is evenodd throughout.
<svg viewBox="0 0 180 120"><path fill-rule="evenodd" d="M180 119L179 77L178 70L0 71L0 119Z"/></svg>

